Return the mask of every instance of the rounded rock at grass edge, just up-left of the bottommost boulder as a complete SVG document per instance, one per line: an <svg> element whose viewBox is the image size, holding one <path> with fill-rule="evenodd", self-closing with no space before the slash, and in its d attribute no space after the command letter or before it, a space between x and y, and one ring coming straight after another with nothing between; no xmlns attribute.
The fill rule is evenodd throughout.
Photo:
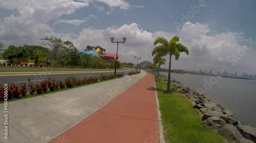
<svg viewBox="0 0 256 143"><path fill-rule="evenodd" d="M220 129L222 126L226 124L226 122L219 117L210 117L203 121L208 129Z"/></svg>

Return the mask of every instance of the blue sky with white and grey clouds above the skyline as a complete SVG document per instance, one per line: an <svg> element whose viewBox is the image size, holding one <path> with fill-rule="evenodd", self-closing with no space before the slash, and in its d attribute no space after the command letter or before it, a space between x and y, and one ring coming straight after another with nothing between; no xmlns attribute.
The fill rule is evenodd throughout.
<svg viewBox="0 0 256 143"><path fill-rule="evenodd" d="M115 54L110 38L126 37L119 60L136 63L134 56L152 62L154 40L169 40L172 34L190 50L173 59L172 69L217 71L225 65L231 73L256 74L255 5L238 0L0 0L0 41L7 48L62 35L79 50L99 45Z"/></svg>

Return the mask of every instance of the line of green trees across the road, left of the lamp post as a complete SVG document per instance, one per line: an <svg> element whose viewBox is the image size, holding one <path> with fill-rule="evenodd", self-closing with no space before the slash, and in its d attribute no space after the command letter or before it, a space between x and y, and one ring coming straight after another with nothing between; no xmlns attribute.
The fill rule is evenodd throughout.
<svg viewBox="0 0 256 143"><path fill-rule="evenodd" d="M70 41L63 41L62 37L42 38L39 45L10 45L4 48L3 42L0 42L0 53L3 59L7 59L13 65L19 65L20 62L34 63L33 66L39 66L45 63L47 58L51 60L49 66L55 67L81 67L81 68L115 68L115 60L104 61L101 58L90 54L79 54L79 50ZM120 63L117 61L117 68L133 67L132 63Z"/></svg>

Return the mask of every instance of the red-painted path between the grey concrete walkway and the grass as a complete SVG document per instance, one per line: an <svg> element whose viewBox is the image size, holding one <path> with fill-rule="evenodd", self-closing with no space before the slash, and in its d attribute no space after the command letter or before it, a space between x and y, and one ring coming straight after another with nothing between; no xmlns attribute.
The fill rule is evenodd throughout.
<svg viewBox="0 0 256 143"><path fill-rule="evenodd" d="M159 142L158 123L154 77L147 74L51 143Z"/></svg>

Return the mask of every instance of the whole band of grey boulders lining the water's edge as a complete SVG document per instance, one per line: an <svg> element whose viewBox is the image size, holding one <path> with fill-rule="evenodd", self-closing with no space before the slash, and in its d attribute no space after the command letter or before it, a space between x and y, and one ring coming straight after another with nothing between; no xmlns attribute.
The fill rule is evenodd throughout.
<svg viewBox="0 0 256 143"><path fill-rule="evenodd" d="M162 75L167 82L167 77ZM170 84L177 92L187 97L193 106L202 114L202 124L208 129L214 129L229 142L256 142L256 128L245 125L233 116L232 111L208 100L204 95L190 90L175 79L170 79Z"/></svg>

